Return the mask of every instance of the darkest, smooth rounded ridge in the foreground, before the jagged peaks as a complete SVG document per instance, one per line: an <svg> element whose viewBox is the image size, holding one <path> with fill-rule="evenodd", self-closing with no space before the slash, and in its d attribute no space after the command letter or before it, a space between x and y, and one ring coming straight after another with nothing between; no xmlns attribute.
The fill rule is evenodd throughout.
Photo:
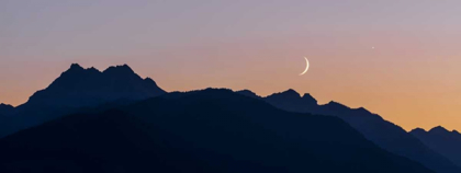
<svg viewBox="0 0 461 173"><path fill-rule="evenodd" d="M0 153L0 172L432 173L340 118L217 89L61 117L1 139Z"/></svg>

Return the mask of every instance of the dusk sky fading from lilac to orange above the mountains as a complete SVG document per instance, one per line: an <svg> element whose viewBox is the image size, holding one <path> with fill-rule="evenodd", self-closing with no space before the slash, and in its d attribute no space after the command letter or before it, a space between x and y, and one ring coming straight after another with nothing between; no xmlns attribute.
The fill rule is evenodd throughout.
<svg viewBox="0 0 461 173"><path fill-rule="evenodd" d="M459 0L0 0L0 103L78 62L167 91L288 89L461 130ZM374 47L374 48L372 48ZM305 68L303 57L311 68Z"/></svg>

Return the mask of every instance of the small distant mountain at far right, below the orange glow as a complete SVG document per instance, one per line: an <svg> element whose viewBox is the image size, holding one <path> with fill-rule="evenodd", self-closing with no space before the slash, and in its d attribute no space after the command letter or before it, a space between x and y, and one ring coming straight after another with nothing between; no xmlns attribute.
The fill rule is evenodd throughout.
<svg viewBox="0 0 461 173"><path fill-rule="evenodd" d="M413 136L423 141L427 147L450 159L461 166L461 134L457 130L449 131L438 126L429 131L416 128L411 131Z"/></svg>

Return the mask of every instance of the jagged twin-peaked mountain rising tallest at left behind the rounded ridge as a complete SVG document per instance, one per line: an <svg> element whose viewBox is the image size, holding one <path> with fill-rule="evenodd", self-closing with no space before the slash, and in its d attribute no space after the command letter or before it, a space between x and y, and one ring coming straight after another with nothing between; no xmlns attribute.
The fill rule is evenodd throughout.
<svg viewBox="0 0 461 173"><path fill-rule="evenodd" d="M127 104L165 93L154 80L140 78L126 65L109 67L101 72L72 64L46 89L35 92L26 103L18 106L13 116L1 119L0 137L82 107L109 102Z"/></svg>

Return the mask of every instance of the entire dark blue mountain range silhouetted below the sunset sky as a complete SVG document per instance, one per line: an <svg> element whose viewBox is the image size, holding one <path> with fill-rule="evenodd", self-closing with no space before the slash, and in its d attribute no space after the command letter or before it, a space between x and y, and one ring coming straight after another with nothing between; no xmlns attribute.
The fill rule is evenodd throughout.
<svg viewBox="0 0 461 173"><path fill-rule="evenodd" d="M26 103L0 105L7 172L461 173L448 153L458 153L458 136L445 134L408 134L366 108L319 105L294 90L167 93L126 65L74 64Z"/></svg>

